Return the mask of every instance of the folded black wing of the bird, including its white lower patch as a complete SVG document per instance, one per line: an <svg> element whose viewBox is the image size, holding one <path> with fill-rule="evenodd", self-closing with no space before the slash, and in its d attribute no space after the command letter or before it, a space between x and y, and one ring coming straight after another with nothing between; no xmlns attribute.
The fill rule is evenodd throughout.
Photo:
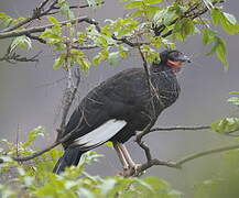
<svg viewBox="0 0 239 198"><path fill-rule="evenodd" d="M64 135L72 133L67 147L90 150L110 140L127 125L129 114L135 110L130 101L137 98L131 94L133 87L128 86L132 78L127 74L106 80L82 100L66 125ZM132 96L128 96L130 94Z"/></svg>

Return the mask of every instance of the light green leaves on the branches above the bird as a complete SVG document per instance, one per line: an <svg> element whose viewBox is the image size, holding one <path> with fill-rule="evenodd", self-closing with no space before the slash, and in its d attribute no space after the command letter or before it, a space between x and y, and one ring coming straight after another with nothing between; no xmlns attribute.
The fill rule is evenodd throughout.
<svg viewBox="0 0 239 198"><path fill-rule="evenodd" d="M89 8L96 9L102 1L88 0ZM224 12L218 0L187 0L163 3L163 0L122 0L123 8L128 10L124 18L108 19L99 26L97 22L85 21L82 24L73 24L70 20L76 14L66 0L58 0L59 13L69 20L62 25L54 15L47 15L53 26L45 29L37 41L46 41L46 44L58 52L53 68L67 69L79 65L83 72L88 72L91 65L99 65L108 61L110 65L119 63L128 57L128 52L135 47L142 47L149 62L159 58L159 48L162 46L175 47L176 41L187 41L188 36L200 34L205 46L211 48L207 55L216 54L228 69L226 42L220 37L218 28L228 34L239 32L237 19ZM204 15L209 10L210 16ZM43 14L44 18L44 14ZM24 19L13 19L0 13L0 21L4 26L12 26ZM20 28L21 29L21 25ZM26 36L26 37L25 37ZM31 46L28 35L14 38L12 50L15 46ZM91 56L87 56L85 50L97 48ZM156 57L155 57L156 56Z"/></svg>

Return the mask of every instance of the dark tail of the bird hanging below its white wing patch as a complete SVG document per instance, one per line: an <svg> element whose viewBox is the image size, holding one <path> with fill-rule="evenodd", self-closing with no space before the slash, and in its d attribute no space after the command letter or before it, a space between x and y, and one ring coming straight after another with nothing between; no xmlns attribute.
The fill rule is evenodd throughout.
<svg viewBox="0 0 239 198"><path fill-rule="evenodd" d="M84 152L78 148L66 148L64 155L56 163L53 173L61 174L66 167L77 166Z"/></svg>

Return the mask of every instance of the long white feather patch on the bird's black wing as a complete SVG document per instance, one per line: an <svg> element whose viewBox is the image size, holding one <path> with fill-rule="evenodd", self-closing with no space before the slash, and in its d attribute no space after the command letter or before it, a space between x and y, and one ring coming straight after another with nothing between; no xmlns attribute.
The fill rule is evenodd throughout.
<svg viewBox="0 0 239 198"><path fill-rule="evenodd" d="M86 135L76 139L70 146L85 147L86 150L96 147L116 135L126 124L124 120L108 120Z"/></svg>

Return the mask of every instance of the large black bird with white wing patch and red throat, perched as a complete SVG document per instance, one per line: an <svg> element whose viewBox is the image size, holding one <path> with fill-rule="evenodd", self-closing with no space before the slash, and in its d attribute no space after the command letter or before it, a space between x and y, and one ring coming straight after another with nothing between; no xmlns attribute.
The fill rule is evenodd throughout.
<svg viewBox="0 0 239 198"><path fill-rule="evenodd" d="M82 99L70 116L63 136L64 154L53 173L77 166L80 156L111 141L123 169L137 168L124 143L178 98L177 74L188 56L177 50L165 50L159 61L142 68L128 68L102 81ZM150 84L149 84L150 82Z"/></svg>

